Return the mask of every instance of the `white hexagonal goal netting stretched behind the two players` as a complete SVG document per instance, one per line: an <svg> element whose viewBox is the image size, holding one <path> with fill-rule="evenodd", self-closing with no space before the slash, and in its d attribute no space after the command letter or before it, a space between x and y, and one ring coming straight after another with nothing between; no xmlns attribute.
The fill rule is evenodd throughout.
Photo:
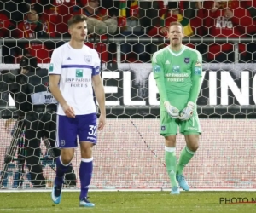
<svg viewBox="0 0 256 213"><path fill-rule="evenodd" d="M199 50L204 61L198 99L203 134L200 149L185 169L189 185L192 188L255 187L256 4L253 0L2 1L2 187L34 187L27 167L31 153L27 153L30 151L26 149L26 135L22 131L14 135L18 112L23 111L23 106L15 106L9 95L24 93L15 85L20 59L32 55L37 58L39 67L48 69L53 49L70 38L67 20L73 14L89 17L89 35L85 44L100 55L107 98L108 124L99 133L94 147L95 169L90 187L170 187L163 158L164 142L159 135L159 95L149 62L155 51L168 45L167 32L172 21L183 25L184 44ZM9 73L13 82L6 82L4 78ZM37 78L42 78L41 84L48 87L47 79ZM34 85L34 88L37 87ZM37 119L32 121L36 122ZM55 119L52 122L55 123ZM47 123L43 121L43 124ZM46 128L45 125L42 128ZM48 129L45 131L49 132ZM40 149L32 155L38 156L38 166L43 168L47 180L46 187L51 187L55 176L52 147L48 138L38 140L41 141L37 145ZM178 135L177 158L184 144L183 136ZM76 187L79 187L79 164L77 150L73 158ZM67 187L71 185L67 184Z"/></svg>

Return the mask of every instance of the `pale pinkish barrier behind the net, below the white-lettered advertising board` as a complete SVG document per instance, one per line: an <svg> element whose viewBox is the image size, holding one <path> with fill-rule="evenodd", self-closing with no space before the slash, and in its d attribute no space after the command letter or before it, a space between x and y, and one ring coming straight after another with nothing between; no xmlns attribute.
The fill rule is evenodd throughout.
<svg viewBox="0 0 256 213"><path fill-rule="evenodd" d="M164 166L164 145L157 133L158 119L132 119L143 139L137 134L129 119L108 119L106 129L99 134L94 148L94 175L90 187L109 188L169 188L169 179ZM185 169L185 176L192 188L255 188L255 133L254 120L201 119L204 134L200 149ZM249 128L251 127L251 129ZM247 129L247 130L245 130ZM1 121L1 148L9 146L11 137L4 131ZM151 153L154 150L157 158ZM177 158L185 141L177 137ZM42 146L43 147L43 146ZM44 150L44 147L43 147ZM43 152L44 153L44 152ZM3 168L3 158L1 158ZM42 161L41 164L45 165ZM74 170L78 174L79 150L73 158ZM18 165L9 164L6 187L17 187ZM25 170L23 187L32 187ZM44 176L53 180L55 172L47 164ZM15 180L16 178L16 180ZM78 180L79 187L79 180Z"/></svg>

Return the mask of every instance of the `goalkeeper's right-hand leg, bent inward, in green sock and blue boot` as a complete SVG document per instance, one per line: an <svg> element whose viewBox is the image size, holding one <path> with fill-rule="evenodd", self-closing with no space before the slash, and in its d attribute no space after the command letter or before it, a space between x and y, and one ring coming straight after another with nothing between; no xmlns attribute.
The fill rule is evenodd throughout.
<svg viewBox="0 0 256 213"><path fill-rule="evenodd" d="M177 164L177 181L183 190L189 191L189 184L183 176L183 169L189 164L189 161L193 158L199 147L199 135L185 135L185 140L187 146L184 147L180 153L180 158Z"/></svg>

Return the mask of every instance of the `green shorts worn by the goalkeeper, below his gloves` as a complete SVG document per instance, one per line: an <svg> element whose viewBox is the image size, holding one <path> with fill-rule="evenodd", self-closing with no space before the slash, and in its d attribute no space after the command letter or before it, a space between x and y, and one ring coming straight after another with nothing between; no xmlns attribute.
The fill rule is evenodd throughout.
<svg viewBox="0 0 256 213"><path fill-rule="evenodd" d="M160 135L177 135L177 127L183 135L200 135L201 125L197 112L189 120L181 121L178 118L171 118L166 111L160 112Z"/></svg>

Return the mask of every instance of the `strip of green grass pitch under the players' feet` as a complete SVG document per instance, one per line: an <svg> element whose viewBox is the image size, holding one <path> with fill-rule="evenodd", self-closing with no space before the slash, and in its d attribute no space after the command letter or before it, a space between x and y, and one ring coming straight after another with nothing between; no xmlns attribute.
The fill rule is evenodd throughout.
<svg viewBox="0 0 256 213"><path fill-rule="evenodd" d="M256 192L90 192L90 201L96 204L90 209L80 208L78 198L79 193L63 192L61 204L55 205L50 193L0 193L0 212L256 212L256 203L219 203L221 198L250 202Z"/></svg>

